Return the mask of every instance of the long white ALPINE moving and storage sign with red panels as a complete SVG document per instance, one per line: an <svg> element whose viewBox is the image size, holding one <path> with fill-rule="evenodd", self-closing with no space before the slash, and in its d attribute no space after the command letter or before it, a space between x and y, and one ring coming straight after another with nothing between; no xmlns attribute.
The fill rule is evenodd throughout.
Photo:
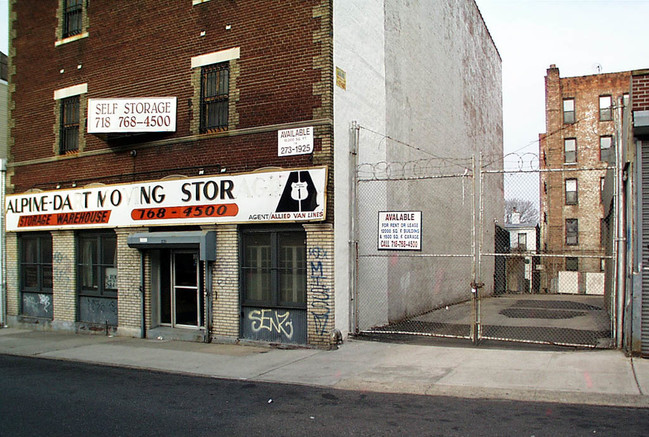
<svg viewBox="0 0 649 437"><path fill-rule="evenodd" d="M8 195L7 231L325 219L326 167Z"/></svg>

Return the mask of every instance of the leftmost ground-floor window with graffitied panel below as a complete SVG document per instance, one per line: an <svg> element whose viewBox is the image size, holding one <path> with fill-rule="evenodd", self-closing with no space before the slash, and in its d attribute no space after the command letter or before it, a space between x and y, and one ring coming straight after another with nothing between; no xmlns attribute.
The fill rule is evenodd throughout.
<svg viewBox="0 0 649 437"><path fill-rule="evenodd" d="M29 234L20 237L21 313L52 318L52 237Z"/></svg>

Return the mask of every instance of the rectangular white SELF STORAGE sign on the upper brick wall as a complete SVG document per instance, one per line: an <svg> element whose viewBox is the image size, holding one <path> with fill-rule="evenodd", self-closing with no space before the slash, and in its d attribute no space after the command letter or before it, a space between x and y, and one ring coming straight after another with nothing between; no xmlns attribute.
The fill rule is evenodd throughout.
<svg viewBox="0 0 649 437"><path fill-rule="evenodd" d="M88 133L175 131L175 97L88 99Z"/></svg>

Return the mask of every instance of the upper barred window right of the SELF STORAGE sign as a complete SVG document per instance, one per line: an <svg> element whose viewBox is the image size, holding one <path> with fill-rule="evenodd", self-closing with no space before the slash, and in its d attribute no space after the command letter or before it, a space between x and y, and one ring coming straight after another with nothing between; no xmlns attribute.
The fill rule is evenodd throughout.
<svg viewBox="0 0 649 437"><path fill-rule="evenodd" d="M208 65L201 70L201 133L227 130L230 65Z"/></svg>

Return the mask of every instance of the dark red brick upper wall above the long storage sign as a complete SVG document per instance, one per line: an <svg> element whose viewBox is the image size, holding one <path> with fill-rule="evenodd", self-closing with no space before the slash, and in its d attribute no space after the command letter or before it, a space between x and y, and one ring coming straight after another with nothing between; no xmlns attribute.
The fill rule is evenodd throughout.
<svg viewBox="0 0 649 437"><path fill-rule="evenodd" d="M324 133L319 129L313 157L288 158L277 156L276 131L242 131L314 119L314 110L323 105L322 97L314 94L314 84L322 80L314 58L322 56L323 46L330 54L332 44L331 38L314 39L323 25L331 25L322 22L328 18L314 18L314 8L328 2L224 0L196 6L191 0L89 2L89 36L58 47L57 2L42 3L38 8L24 1L11 5L16 19L10 50L14 67L10 82L15 85L10 190L196 175L192 167L204 167L209 174L217 165L238 172L331 161L331 156L319 154L323 138L330 140L328 129ZM238 124L221 136L192 136L192 110L198 108L190 104L194 94L190 60L232 47L241 48ZM57 157L53 92L81 83L88 84L87 98L175 96L177 131L122 143L85 134L81 153ZM331 99L328 102L330 106ZM326 114L331 112L326 108ZM143 141L154 141L153 147L139 148ZM130 154L133 148L138 148L135 157ZM105 150L112 153L94 154ZM21 165L34 159L42 162Z"/></svg>

